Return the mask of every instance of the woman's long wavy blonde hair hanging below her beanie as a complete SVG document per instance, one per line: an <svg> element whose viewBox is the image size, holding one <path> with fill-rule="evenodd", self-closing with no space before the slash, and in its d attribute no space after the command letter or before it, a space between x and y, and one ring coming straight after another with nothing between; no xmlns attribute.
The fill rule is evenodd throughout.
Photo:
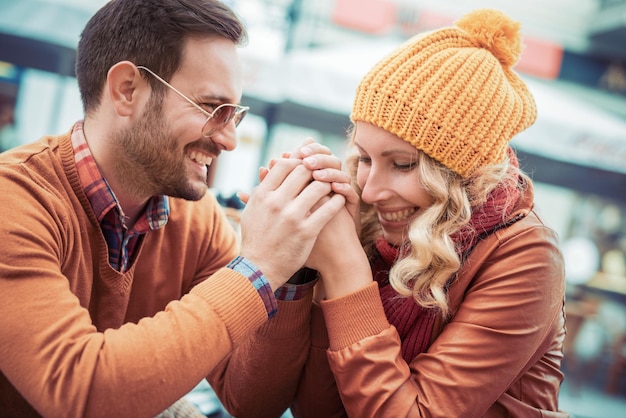
<svg viewBox="0 0 626 418"><path fill-rule="evenodd" d="M354 129L349 136L352 149ZM528 184L529 178L513 166L508 157L501 164L486 166L469 178L463 178L425 153L417 149L416 152L422 186L434 202L411 224L408 231L410 253L403 254L391 268L389 281L400 295L412 296L419 305L438 309L446 317L450 313L446 287L462 263L452 236L459 232L478 233L471 230L472 208L482 206L489 193L510 180L512 173L519 176L522 185ZM352 186L361 196L362 190L356 182L358 160L358 152L350 152L346 167ZM375 241L380 236L380 224L374 208L362 200L360 216L361 244L371 259ZM503 214L503 222L505 220Z"/></svg>

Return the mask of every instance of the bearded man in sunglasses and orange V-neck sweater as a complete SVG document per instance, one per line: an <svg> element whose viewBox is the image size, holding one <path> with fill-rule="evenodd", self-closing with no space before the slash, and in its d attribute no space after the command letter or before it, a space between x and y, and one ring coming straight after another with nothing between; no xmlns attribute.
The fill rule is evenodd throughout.
<svg viewBox="0 0 626 418"><path fill-rule="evenodd" d="M113 0L78 45L84 121L0 155L0 416L165 410L268 321L343 209L281 160L239 247L207 193L247 110L245 37L218 0Z"/></svg>

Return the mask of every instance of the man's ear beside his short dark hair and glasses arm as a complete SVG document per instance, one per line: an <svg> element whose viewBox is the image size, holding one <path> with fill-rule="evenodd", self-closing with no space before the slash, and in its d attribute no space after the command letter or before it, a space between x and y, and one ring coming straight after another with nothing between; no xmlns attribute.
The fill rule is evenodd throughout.
<svg viewBox="0 0 626 418"><path fill-rule="evenodd" d="M107 74L107 87L113 108L120 116L136 112L150 96L150 85L130 61L120 61Z"/></svg>

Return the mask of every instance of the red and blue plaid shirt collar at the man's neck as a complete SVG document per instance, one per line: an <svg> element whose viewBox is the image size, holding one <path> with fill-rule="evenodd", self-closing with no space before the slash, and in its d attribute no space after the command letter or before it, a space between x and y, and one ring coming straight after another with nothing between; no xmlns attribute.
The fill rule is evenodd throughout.
<svg viewBox="0 0 626 418"><path fill-rule="evenodd" d="M72 131L72 147L74 148L74 160L82 188L91 203L98 222L102 223L105 216L112 210L117 210L120 219L123 219L122 207L106 179L102 176L89 150L82 121L76 123ZM153 196L146 205L146 211L135 223L134 232L141 234L162 228L167 223L169 212L168 197L165 195Z"/></svg>

